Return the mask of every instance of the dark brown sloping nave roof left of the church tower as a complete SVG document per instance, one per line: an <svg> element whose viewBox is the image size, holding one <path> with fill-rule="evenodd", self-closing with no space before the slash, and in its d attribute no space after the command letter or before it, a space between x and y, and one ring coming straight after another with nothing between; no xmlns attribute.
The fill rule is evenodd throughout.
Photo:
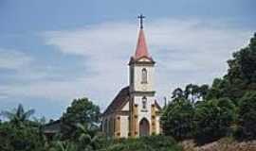
<svg viewBox="0 0 256 151"><path fill-rule="evenodd" d="M103 116L110 114L115 111L119 111L121 107L129 101L130 98L130 91L129 86L123 88L118 95L114 98L111 104L105 109L103 112Z"/></svg>

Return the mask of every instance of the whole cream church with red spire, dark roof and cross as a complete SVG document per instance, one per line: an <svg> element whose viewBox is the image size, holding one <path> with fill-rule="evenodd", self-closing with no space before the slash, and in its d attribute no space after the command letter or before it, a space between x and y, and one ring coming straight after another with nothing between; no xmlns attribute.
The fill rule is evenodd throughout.
<svg viewBox="0 0 256 151"><path fill-rule="evenodd" d="M135 55L129 61L129 86L121 89L101 118L102 132L112 138L137 138L160 133L160 106L155 99L155 60L140 26Z"/></svg>

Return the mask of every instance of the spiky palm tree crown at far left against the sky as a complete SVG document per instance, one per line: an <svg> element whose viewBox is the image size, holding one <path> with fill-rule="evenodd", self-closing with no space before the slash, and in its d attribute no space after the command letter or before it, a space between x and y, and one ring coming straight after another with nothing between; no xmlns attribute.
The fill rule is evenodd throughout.
<svg viewBox="0 0 256 151"><path fill-rule="evenodd" d="M13 111L5 110L2 112L2 115L7 117L10 123L14 124L15 126L23 126L34 112L34 109L28 109L25 111L23 106L19 104L17 109L13 109Z"/></svg>

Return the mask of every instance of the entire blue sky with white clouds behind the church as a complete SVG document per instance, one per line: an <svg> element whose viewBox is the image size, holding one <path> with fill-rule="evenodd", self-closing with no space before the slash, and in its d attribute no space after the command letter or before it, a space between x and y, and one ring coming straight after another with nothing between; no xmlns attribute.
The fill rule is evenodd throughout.
<svg viewBox="0 0 256 151"><path fill-rule="evenodd" d="M0 110L21 103L58 119L81 97L105 109L128 85L140 13L162 104L174 88L226 74L231 54L256 32L255 7L255 0L0 0Z"/></svg>

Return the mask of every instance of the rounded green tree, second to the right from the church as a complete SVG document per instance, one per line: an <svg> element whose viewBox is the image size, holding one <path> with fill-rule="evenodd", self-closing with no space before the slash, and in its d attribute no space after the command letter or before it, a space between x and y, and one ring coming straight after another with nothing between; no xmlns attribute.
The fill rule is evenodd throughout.
<svg viewBox="0 0 256 151"><path fill-rule="evenodd" d="M200 101L195 105L195 138L209 143L227 136L235 120L235 105L228 98Z"/></svg>

